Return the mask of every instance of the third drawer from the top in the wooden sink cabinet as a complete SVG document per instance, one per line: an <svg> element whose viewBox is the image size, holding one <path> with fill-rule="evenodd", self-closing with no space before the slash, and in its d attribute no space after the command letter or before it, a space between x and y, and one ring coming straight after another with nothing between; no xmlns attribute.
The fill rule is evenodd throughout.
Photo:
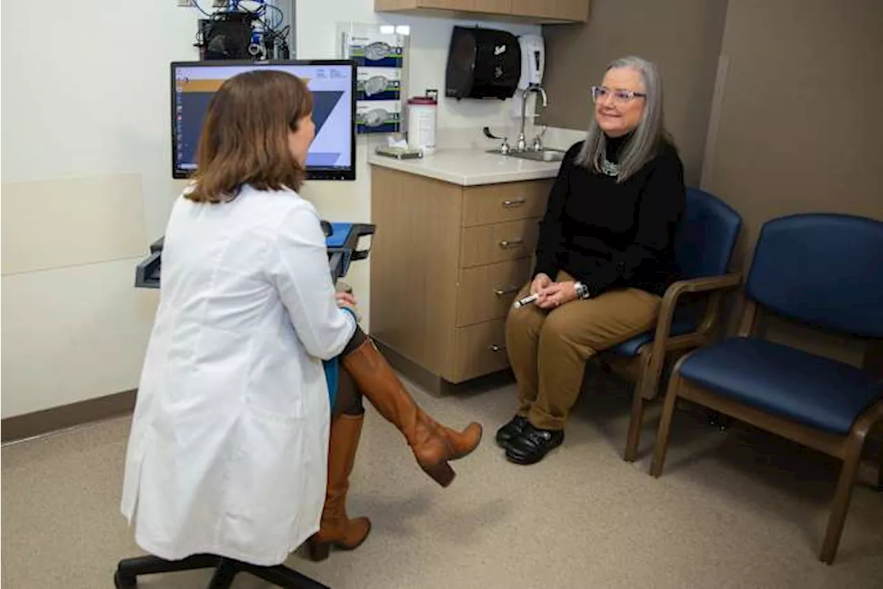
<svg viewBox="0 0 883 589"><path fill-rule="evenodd" d="M527 282L530 264L529 259L521 259L461 270L457 327L506 317Z"/></svg>

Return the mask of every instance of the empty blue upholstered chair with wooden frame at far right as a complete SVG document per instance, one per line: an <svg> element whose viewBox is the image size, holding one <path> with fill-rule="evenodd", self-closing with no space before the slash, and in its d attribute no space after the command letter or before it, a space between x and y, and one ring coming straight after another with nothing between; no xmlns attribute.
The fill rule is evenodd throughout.
<svg viewBox="0 0 883 589"><path fill-rule="evenodd" d="M819 559L840 543L865 436L883 424L883 223L835 214L777 218L763 226L736 337L676 364L651 474L659 477L679 397L843 461ZM865 370L758 337L759 310L869 340Z"/></svg>

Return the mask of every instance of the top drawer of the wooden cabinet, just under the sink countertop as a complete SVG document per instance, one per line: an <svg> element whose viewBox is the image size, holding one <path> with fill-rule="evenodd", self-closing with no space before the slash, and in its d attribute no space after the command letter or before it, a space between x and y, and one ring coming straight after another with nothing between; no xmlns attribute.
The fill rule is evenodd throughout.
<svg viewBox="0 0 883 589"><path fill-rule="evenodd" d="M552 180L531 180L465 187L463 226L473 227L542 217Z"/></svg>

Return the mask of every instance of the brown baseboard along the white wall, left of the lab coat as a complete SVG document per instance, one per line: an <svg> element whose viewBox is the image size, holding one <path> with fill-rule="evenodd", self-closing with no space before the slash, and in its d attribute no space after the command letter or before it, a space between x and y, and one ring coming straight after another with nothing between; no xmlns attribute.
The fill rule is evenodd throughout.
<svg viewBox="0 0 883 589"><path fill-rule="evenodd" d="M132 413L137 394L132 389L0 419L0 446Z"/></svg>

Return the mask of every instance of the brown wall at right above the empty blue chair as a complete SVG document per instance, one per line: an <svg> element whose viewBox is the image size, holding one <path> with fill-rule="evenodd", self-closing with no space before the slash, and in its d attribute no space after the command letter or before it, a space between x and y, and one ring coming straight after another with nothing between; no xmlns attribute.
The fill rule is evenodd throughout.
<svg viewBox="0 0 883 589"><path fill-rule="evenodd" d="M738 0L729 6L704 186L742 213L744 268L769 218L883 219L883 2ZM773 325L776 339L858 362L855 342Z"/></svg>

